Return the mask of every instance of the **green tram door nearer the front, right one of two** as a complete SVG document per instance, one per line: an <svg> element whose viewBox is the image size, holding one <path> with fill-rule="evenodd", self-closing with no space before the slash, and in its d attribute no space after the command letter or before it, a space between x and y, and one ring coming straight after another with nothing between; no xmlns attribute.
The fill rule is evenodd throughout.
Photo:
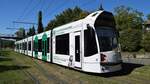
<svg viewBox="0 0 150 84"><path fill-rule="evenodd" d="M47 35L42 37L42 60L47 61Z"/></svg>

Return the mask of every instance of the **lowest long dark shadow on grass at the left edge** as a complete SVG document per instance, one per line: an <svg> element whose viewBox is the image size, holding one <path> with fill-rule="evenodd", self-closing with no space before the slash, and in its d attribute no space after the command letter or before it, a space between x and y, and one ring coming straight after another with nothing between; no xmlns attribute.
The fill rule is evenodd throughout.
<svg viewBox="0 0 150 84"><path fill-rule="evenodd" d="M22 70L30 68L29 66L17 66L17 65L0 65L0 73L11 70Z"/></svg>

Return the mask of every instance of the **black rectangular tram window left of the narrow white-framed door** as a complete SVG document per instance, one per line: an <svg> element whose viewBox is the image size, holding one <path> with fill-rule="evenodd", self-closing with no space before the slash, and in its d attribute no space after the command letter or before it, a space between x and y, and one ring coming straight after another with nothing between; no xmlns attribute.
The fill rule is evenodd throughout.
<svg viewBox="0 0 150 84"><path fill-rule="evenodd" d="M56 36L56 54L69 55L69 34Z"/></svg>

